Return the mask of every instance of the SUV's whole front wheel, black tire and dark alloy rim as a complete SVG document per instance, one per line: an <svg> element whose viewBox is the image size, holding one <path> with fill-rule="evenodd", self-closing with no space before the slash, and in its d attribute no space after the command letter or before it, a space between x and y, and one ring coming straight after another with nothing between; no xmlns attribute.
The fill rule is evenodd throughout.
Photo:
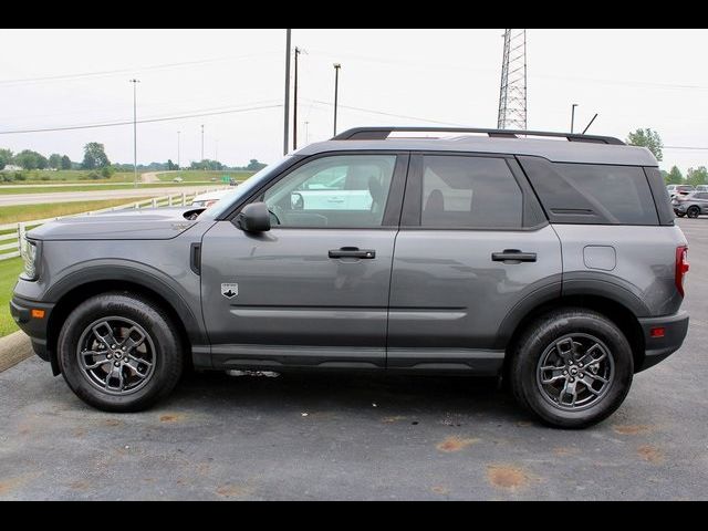
<svg viewBox="0 0 708 531"><path fill-rule="evenodd" d="M128 292L103 293L76 306L62 326L56 352L69 387L105 412L148 408L173 391L184 366L170 317L149 299Z"/></svg>

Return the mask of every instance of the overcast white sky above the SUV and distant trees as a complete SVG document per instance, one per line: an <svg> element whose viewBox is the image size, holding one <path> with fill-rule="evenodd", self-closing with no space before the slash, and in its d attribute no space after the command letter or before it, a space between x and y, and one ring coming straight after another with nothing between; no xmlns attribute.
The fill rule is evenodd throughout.
<svg viewBox="0 0 708 531"><path fill-rule="evenodd" d="M502 29L292 30L298 147L365 125L496 127ZM657 131L660 167L708 165L707 30L527 30L528 128L626 138ZM83 158L88 142L138 164L283 154L285 30L0 30L0 147ZM291 74L292 74L291 70ZM291 90L292 96L292 90ZM185 117L194 114L208 116ZM126 125L9 133L125 122ZM178 134L179 132L179 134ZM290 149L292 149L292 133ZM674 146L674 147L670 147ZM679 148L684 147L684 148ZM698 147L702 149L685 149Z"/></svg>

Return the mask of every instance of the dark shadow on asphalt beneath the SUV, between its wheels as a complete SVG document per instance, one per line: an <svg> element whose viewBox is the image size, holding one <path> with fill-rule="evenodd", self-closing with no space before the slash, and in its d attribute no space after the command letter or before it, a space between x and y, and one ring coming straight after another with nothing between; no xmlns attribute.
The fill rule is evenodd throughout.
<svg viewBox="0 0 708 531"><path fill-rule="evenodd" d="M496 378L285 372L277 377L189 373L169 407L251 408L259 414L346 412L382 415L489 415L499 421L531 421Z"/></svg>

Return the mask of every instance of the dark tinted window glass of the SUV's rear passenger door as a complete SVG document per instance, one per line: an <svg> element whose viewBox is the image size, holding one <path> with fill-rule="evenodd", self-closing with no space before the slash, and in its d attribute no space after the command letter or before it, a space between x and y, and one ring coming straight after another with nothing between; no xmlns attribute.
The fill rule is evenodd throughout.
<svg viewBox="0 0 708 531"><path fill-rule="evenodd" d="M425 156L421 227L519 228L523 196L502 158Z"/></svg>

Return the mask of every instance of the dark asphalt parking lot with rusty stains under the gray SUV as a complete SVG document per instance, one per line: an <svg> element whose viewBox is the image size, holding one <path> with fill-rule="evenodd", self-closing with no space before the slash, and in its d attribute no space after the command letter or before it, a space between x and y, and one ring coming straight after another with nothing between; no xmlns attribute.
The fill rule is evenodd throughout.
<svg viewBox="0 0 708 531"><path fill-rule="evenodd" d="M598 426L491 381L322 374L196 374L104 414L32 357L0 373L0 499L708 499L708 218L678 223L688 337Z"/></svg>

